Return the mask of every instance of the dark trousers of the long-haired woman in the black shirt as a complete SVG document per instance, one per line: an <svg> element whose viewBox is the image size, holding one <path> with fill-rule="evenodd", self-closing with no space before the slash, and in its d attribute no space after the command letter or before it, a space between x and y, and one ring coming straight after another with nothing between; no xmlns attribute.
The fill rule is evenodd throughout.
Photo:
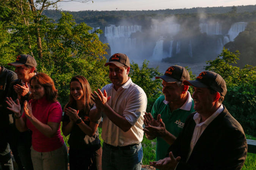
<svg viewBox="0 0 256 170"><path fill-rule="evenodd" d="M101 168L102 148L74 149L69 148L69 168L70 170L102 170Z"/></svg>

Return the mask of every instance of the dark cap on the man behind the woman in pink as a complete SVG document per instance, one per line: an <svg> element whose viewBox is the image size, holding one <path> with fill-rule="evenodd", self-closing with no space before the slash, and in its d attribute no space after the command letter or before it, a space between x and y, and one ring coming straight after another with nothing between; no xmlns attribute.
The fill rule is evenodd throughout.
<svg viewBox="0 0 256 170"><path fill-rule="evenodd" d="M8 63L8 65L13 65L13 66L29 65L29 66L36 67L37 63L34 57L27 54L21 54L17 56L17 59L15 62Z"/></svg>

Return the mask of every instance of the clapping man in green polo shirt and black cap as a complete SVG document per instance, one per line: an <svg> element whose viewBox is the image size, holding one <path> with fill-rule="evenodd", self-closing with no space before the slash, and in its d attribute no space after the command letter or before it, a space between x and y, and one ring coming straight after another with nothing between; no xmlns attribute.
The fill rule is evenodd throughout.
<svg viewBox="0 0 256 170"><path fill-rule="evenodd" d="M149 140L157 138L155 161L165 158L167 150L181 133L187 116L194 112L194 102L183 80L190 80L182 66L170 66L163 76L162 92L151 113L144 115L144 132Z"/></svg>

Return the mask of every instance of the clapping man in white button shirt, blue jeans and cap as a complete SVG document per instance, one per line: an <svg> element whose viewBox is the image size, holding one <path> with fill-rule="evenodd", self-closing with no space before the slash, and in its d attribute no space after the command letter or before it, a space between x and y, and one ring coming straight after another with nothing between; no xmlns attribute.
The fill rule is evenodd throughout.
<svg viewBox="0 0 256 170"><path fill-rule="evenodd" d="M92 99L95 102L90 111L90 120L103 116L102 134L104 140L102 169L141 169L143 139L143 115L147 97L142 88L130 77L130 60L126 54L116 53L110 57L111 84L105 85Z"/></svg>

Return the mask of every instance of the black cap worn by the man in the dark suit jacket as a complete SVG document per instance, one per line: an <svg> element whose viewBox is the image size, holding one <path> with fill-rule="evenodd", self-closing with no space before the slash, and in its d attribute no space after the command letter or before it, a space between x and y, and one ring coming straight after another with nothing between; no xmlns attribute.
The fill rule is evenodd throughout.
<svg viewBox="0 0 256 170"><path fill-rule="evenodd" d="M198 77L196 77L196 80L184 80L183 84L199 88L212 88L219 92L221 96L225 96L227 93L225 80L220 76L220 74L212 71L203 71Z"/></svg>

